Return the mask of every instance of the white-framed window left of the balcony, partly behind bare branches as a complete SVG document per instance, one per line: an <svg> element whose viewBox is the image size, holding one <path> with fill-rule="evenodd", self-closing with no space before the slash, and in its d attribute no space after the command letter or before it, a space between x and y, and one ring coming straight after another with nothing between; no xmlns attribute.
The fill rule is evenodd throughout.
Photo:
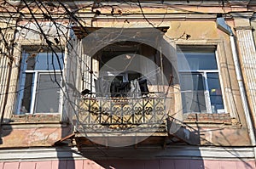
<svg viewBox="0 0 256 169"><path fill-rule="evenodd" d="M40 52L38 52L40 51ZM58 113L63 53L49 48L22 52L17 113Z"/></svg>

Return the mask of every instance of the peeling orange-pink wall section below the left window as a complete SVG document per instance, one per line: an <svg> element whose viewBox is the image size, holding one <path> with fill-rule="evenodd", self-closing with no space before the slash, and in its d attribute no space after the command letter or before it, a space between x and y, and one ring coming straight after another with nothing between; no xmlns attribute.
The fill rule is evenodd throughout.
<svg viewBox="0 0 256 169"><path fill-rule="evenodd" d="M3 143L0 144L0 148L52 146L71 132L71 126L60 124L25 124L18 128L11 128L9 125L9 127L2 127Z"/></svg>

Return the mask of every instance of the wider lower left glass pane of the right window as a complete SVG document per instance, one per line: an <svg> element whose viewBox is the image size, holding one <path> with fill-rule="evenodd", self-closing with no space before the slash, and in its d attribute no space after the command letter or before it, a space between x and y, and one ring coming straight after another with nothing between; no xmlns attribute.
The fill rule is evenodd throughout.
<svg viewBox="0 0 256 169"><path fill-rule="evenodd" d="M207 112L204 77L200 73L181 73L183 113Z"/></svg>

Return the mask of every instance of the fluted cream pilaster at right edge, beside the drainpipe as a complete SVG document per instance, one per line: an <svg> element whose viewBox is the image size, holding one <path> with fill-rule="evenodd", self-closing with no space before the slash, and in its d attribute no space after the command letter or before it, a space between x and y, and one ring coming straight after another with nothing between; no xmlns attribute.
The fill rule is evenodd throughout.
<svg viewBox="0 0 256 169"><path fill-rule="evenodd" d="M245 13L244 17L235 16L237 46L240 53L241 71L245 80L245 87L249 108L253 115L254 127L256 127L256 50L253 39L253 27L250 24L250 17L253 13Z"/></svg>

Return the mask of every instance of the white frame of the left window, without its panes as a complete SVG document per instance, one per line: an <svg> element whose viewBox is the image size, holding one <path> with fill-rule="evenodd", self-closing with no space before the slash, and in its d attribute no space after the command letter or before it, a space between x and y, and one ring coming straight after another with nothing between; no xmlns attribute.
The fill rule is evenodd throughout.
<svg viewBox="0 0 256 169"><path fill-rule="evenodd" d="M63 65L62 65L62 69L49 69L49 70L43 70L43 69L35 69L35 70L27 70L25 68L25 65L23 63L24 59L27 58L26 54L29 53L35 53L38 54L40 53L47 53L47 54L54 54L53 51L51 51L49 48L47 47L43 47L46 48L47 51L45 52L38 52L37 49L38 48L42 48L41 46L37 46L35 45L35 48L29 49L25 47L21 47L21 58L20 58L20 73L19 73L19 83L18 83L18 94L17 94L17 100L16 100L16 106L15 106L15 115L23 115L23 114L29 114L29 115L60 115L61 114L61 105L63 102L62 99L62 95L63 95L63 88L61 89L61 87L59 87L58 89L58 95L59 95L59 101L58 101L58 111L57 112L42 112L42 113L38 113L36 112L36 105L37 105L37 94L38 94L38 84L39 84L39 76L40 74L48 74L49 76L52 76L53 78L55 78L55 75L61 75L61 72L64 71L64 60L65 60L65 51L55 51L56 54L61 54L61 56L63 57ZM57 49L57 48L56 48ZM59 50L59 49L57 49ZM55 57L55 56L54 56ZM30 110L27 110L27 112L25 113L21 113L21 107L22 107L22 99L24 97L24 87L25 87L25 83L26 83L26 79L24 78L24 74L32 74L32 87L31 87L31 100L30 100ZM54 75L55 74L55 75ZM61 85L62 79L63 77L61 77L59 84ZM57 84L56 84L57 85ZM20 91L22 91L22 93L20 93Z"/></svg>

